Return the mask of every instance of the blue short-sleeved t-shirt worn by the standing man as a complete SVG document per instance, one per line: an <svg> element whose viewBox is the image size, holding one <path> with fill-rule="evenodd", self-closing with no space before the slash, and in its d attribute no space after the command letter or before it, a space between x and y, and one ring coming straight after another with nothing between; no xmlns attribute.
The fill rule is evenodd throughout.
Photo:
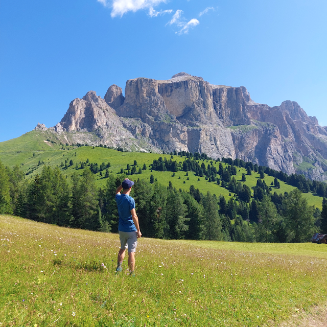
<svg viewBox="0 0 327 327"><path fill-rule="evenodd" d="M134 199L126 194L116 194L115 200L117 202L119 214L118 230L137 231L131 214L131 210L135 209Z"/></svg>

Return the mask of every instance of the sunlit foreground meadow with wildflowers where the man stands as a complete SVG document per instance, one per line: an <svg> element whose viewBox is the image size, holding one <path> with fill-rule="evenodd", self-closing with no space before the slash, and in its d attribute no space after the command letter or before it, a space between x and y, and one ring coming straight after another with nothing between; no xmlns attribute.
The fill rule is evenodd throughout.
<svg viewBox="0 0 327 327"><path fill-rule="evenodd" d="M142 217L140 217L142 219ZM325 302L327 245L140 239L0 216L1 326L264 326Z"/></svg>

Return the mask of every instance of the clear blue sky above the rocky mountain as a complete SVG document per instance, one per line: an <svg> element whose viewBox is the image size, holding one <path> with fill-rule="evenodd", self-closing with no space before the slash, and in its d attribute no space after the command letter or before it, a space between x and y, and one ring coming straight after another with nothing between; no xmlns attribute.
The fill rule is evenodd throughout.
<svg viewBox="0 0 327 327"><path fill-rule="evenodd" d="M292 100L327 125L327 2L26 0L0 5L0 142L69 102L179 72Z"/></svg>

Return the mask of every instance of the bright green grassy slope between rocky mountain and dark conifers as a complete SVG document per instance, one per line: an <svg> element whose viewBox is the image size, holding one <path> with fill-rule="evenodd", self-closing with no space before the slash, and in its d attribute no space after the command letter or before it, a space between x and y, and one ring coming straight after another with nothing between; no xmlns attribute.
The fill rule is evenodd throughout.
<svg viewBox="0 0 327 327"><path fill-rule="evenodd" d="M0 143L0 159L3 161L4 165L8 165L10 167L14 165L21 165L21 169L26 173L30 168L36 170L27 176L27 178L33 178L36 173L40 173L42 170L42 165L37 167L38 161L44 161L45 164L50 164L52 166L60 166L61 162L65 162L65 159L71 160L73 159L74 165L69 167L67 170L63 170L63 174L67 175L67 178L70 178L74 173L75 164L80 161L86 161L88 158L90 162L98 162L100 165L102 162L110 161L111 167L109 171L113 174L117 174L120 172L121 168L126 169L126 165L133 165L134 160L137 161L138 166L143 168L143 164L145 163L149 168L149 165L152 164L154 159L158 159L159 156L170 158L170 155L159 155L154 153L139 153L139 152L119 152L111 149L98 148L92 149L92 147L80 147L73 148L72 146L64 146L65 150L61 150L61 146L59 144L52 144L44 142L47 138L52 139L53 134L50 131L31 131L20 137L11 139L10 141ZM57 140L55 140L58 142ZM35 156L33 157L33 153ZM183 161L184 158L180 158L178 156L174 156L173 160ZM208 165L208 162L204 161L205 165ZM214 164L218 170L219 163ZM80 165L79 165L80 166ZM138 171L138 167L137 167ZM80 174L82 174L82 170L78 170ZM246 173L244 168L238 169L238 174L236 176L237 180L241 180L242 173ZM217 183L209 183L205 180L204 177L200 178L198 181L198 177L193 173L189 172L190 180L187 180L185 176L185 172L178 171L175 177L172 177L172 172L156 172L153 171L152 174L155 178L157 178L161 183L168 185L169 181L172 181L173 185L177 189L182 189L188 191L190 189L190 185L194 185L195 188L198 188L202 193L207 193L210 191L211 193L216 194L217 196L223 195L228 197L229 191L218 186ZM136 178L144 178L150 180L150 170L147 169L143 171L141 175L131 175L131 179ZM178 179L180 177L180 179ZM96 175L99 187L103 187L106 183L106 179L100 176L100 173ZM259 178L259 174L252 172L251 176L246 175L246 182L250 188L256 185L256 180ZM267 185L270 185L274 180L273 177L265 176L265 181ZM183 183L185 181L185 184ZM294 187L288 185L281 181L281 189L275 189L272 186L273 191L279 193L291 192L294 190ZM310 205L315 205L316 207L321 208L322 198L313 195L312 193L303 194L303 196L308 200Z"/></svg>

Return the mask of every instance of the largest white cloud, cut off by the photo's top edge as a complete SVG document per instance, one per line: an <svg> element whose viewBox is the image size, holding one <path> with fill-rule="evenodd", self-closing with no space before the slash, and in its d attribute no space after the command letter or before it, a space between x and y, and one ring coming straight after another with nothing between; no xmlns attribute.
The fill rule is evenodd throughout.
<svg viewBox="0 0 327 327"><path fill-rule="evenodd" d="M159 14L169 13L166 10L155 11L153 7L159 5L160 3L166 3L166 0L97 0L105 7L111 7L111 17L123 16L128 11L136 12L140 9L149 9L149 14L151 13L154 17ZM160 13L161 12L161 13ZM172 11L170 11L171 13Z"/></svg>

